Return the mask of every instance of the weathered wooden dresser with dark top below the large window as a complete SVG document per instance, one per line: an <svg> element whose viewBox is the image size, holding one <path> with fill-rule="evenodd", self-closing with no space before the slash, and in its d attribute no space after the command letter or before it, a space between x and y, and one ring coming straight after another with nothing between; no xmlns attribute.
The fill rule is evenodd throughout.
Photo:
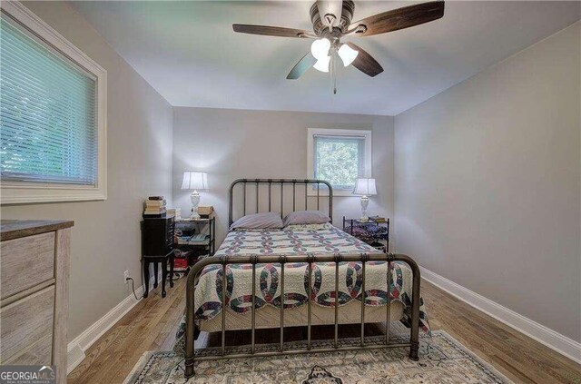
<svg viewBox="0 0 581 384"><path fill-rule="evenodd" d="M74 222L0 222L0 364L53 365L66 383Z"/></svg>

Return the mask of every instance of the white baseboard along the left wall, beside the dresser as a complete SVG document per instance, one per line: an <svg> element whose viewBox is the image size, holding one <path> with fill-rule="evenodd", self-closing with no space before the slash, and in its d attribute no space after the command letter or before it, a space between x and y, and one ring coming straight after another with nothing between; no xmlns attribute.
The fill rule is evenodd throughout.
<svg viewBox="0 0 581 384"><path fill-rule="evenodd" d="M159 276L159 279L161 281L161 275ZM153 287L154 281L155 277L153 276L150 279L150 287ZM83 362L85 358L84 351L91 347L96 340L99 340L99 338L103 336L107 330L110 330L117 321L121 320L121 318L123 318L127 312L132 310L133 307L142 300L144 291L145 289L143 285L137 287L135 294L139 300L135 299L132 292L129 296L117 304L113 310L109 310L101 319L95 321L93 325L84 330L83 333L68 343L66 366L67 375Z"/></svg>

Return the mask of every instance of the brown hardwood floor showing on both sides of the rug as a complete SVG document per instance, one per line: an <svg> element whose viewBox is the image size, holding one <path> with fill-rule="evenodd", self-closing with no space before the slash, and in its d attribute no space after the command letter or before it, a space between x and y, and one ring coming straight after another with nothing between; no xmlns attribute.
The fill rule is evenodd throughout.
<svg viewBox="0 0 581 384"><path fill-rule="evenodd" d="M140 301L85 351L86 359L68 376L69 383L121 383L144 351L171 349L175 329L185 308L185 280L176 281L175 286L167 290L165 299L159 290L153 290L148 299ZM509 379L517 383L581 384L581 365L574 361L427 281L422 281L422 295L433 330L447 331ZM346 328L341 333L358 336L351 335L351 331ZM285 330L285 338L287 332L289 340L302 334L300 329ZM369 329L369 332L373 333L373 330ZM248 339L244 332L232 333L238 335L233 338L230 337L233 334L229 335L229 340L244 342Z"/></svg>

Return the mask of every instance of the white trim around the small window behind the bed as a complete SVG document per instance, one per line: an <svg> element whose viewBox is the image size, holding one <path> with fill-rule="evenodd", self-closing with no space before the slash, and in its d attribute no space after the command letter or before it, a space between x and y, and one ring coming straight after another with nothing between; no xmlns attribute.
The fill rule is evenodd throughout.
<svg viewBox="0 0 581 384"><path fill-rule="evenodd" d="M307 130L307 177L309 179L314 179L314 136L356 136L365 138L365 164L364 166L364 177L371 177L371 164L372 164L372 135L370 130L360 130L360 129L334 129L334 128L308 128ZM329 192L326 189L320 190L320 196L329 196ZM307 190L309 196L317 196L317 190L314 188L309 188ZM333 196L355 196L350 190L335 190L333 189Z"/></svg>

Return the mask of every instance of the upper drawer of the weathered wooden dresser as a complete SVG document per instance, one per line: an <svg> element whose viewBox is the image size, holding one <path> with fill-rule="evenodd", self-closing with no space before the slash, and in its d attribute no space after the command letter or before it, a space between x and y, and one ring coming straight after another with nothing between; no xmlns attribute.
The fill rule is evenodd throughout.
<svg viewBox="0 0 581 384"><path fill-rule="evenodd" d="M0 247L0 299L54 277L54 232L2 241Z"/></svg>

